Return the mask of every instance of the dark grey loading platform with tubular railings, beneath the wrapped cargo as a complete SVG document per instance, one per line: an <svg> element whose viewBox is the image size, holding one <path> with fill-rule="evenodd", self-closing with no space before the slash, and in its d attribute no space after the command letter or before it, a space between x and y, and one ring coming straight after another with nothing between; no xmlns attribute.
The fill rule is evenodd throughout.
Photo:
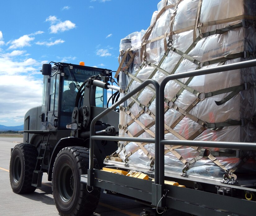
<svg viewBox="0 0 256 216"><path fill-rule="evenodd" d="M239 179L239 185L221 183L219 180L199 178L196 176L179 176L178 174L164 173L164 145L184 145L214 148L233 148L256 150L256 143L234 142L208 142L208 141L182 141L164 139L164 88L168 81L210 73L218 73L240 68L255 67L256 60L248 60L234 64L222 65L214 68L205 68L185 73L173 74L165 77L159 85L154 80L146 80L140 86L129 92L109 109L99 114L92 120L90 128L90 162L88 175L81 175L81 182L90 187L101 187L109 192L125 195L144 202L150 208L141 215L164 215L166 209L176 209L184 215L197 216L253 216L256 213L256 176L251 175L248 181ZM152 84L156 92L155 138L113 137L97 136L93 134L96 121L106 113L115 109L132 95ZM132 178L126 175L115 174L103 170L93 169L94 140L113 140L128 142L155 143L154 171L139 170L152 174L154 181ZM117 170L131 170L125 163L118 161L106 162L106 167ZM164 181L172 180L185 187L165 184ZM187 186L190 186L188 188ZM168 214L176 215L176 214ZM177 214L180 215L180 214ZM183 214L182 214L183 215Z"/></svg>

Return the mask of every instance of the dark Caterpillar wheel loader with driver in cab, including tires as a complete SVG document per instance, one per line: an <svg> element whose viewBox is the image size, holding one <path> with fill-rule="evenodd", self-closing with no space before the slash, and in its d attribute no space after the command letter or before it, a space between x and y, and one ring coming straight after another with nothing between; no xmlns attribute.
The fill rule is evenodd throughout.
<svg viewBox="0 0 256 216"><path fill-rule="evenodd" d="M33 192L41 187L43 173L52 181L56 207L62 215L80 215L77 209L97 206L100 190L88 193L80 175L89 163L90 123L107 109L107 89L116 91L112 71L67 63L43 64L42 106L25 114L23 143L11 151L10 182L15 193ZM112 102L114 99L112 98ZM95 134L115 136L119 113L97 121ZM95 167L103 166L106 156L115 152L115 141L97 142ZM91 189L89 189L91 190ZM81 196L78 196L80 194Z"/></svg>

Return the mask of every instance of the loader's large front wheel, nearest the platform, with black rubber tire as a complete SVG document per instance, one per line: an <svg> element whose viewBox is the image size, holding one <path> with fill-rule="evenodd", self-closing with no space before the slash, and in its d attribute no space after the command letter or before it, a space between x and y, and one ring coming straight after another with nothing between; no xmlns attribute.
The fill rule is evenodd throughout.
<svg viewBox="0 0 256 216"><path fill-rule="evenodd" d="M56 156L52 170L52 193L56 208L62 216L91 215L97 208L101 189L80 182L87 174L89 151L83 147L66 147ZM97 160L94 167L98 169Z"/></svg>

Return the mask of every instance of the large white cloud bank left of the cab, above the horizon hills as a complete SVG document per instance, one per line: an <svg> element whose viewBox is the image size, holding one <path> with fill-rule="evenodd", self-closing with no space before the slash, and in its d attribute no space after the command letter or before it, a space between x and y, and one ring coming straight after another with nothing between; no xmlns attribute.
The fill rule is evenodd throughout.
<svg viewBox="0 0 256 216"><path fill-rule="evenodd" d="M5 125L22 125L25 113L42 103L43 77L33 75L40 73L41 63L20 58L24 52L0 55L0 119ZM17 56L19 60L15 60Z"/></svg>

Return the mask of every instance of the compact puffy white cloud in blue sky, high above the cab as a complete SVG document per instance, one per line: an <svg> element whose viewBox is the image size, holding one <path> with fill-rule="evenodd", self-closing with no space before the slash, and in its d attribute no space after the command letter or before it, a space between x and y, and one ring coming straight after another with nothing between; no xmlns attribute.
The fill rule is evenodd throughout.
<svg viewBox="0 0 256 216"><path fill-rule="evenodd" d="M50 33L58 33L58 32L64 32L68 31L70 29L74 29L76 25L72 23L70 20L66 20L64 22L61 22L61 20L58 20L56 16L49 16L46 21L51 22L50 26ZM55 24L57 23L57 24Z"/></svg>

